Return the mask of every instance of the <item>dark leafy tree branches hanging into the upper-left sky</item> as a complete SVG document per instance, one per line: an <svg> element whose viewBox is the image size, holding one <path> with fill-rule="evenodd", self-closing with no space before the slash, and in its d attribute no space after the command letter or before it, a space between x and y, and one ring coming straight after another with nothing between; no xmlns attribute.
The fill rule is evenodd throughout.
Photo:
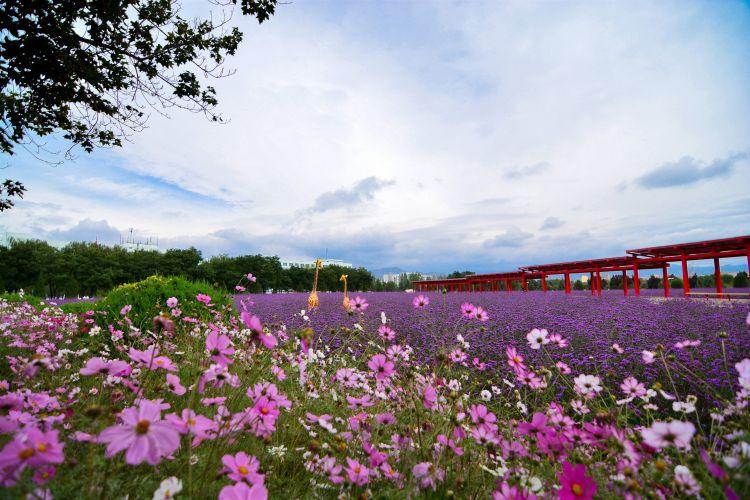
<svg viewBox="0 0 750 500"><path fill-rule="evenodd" d="M52 153L38 138L56 131L87 152L120 146L145 127L150 108L220 121L216 91L201 80L230 74L223 63L242 33L230 26L228 8L239 4L262 23L276 0L213 3L227 9L223 16L188 20L170 0L3 2L0 151L13 154L20 145ZM3 206L12 205L6 199Z"/></svg>

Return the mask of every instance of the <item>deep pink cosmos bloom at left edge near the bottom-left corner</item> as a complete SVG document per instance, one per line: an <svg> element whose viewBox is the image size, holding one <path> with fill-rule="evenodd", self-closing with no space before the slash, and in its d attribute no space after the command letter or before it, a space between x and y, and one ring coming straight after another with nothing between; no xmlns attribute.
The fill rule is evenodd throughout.
<svg viewBox="0 0 750 500"><path fill-rule="evenodd" d="M0 451L0 484L12 486L27 466L61 464L63 446L57 430L43 432L33 426L22 430Z"/></svg>

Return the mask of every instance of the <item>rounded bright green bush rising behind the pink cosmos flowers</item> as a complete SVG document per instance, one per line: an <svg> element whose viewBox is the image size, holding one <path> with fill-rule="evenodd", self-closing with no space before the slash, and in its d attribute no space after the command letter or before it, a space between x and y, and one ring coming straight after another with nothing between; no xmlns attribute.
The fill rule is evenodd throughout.
<svg viewBox="0 0 750 500"><path fill-rule="evenodd" d="M208 318L208 308L195 300L198 294L210 296L211 303L217 310L229 312L232 309L231 296L208 283L188 281L174 276L151 276L137 283L118 286L97 302L96 307L89 304L86 310L93 308L96 311L104 311L106 320L113 322L122 317L122 308L130 305L132 309L128 317L135 326L143 327L149 324L154 316L162 312L168 313L167 299L175 297L179 301L177 307L183 316Z"/></svg>

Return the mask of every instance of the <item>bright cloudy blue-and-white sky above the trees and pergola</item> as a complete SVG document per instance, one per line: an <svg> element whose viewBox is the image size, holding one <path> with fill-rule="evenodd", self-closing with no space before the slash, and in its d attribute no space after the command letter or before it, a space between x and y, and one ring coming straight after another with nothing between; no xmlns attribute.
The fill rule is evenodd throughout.
<svg viewBox="0 0 750 500"><path fill-rule="evenodd" d="M422 271L750 234L746 3L296 0L240 25L229 123L2 158L29 192L0 225Z"/></svg>

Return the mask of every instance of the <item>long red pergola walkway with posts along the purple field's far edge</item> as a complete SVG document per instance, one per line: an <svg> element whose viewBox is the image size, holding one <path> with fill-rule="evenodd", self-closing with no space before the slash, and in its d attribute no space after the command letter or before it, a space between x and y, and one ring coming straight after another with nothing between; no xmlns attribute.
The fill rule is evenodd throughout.
<svg viewBox="0 0 750 500"><path fill-rule="evenodd" d="M501 289L502 283L504 284L505 291L510 292L513 289L514 281L519 281L521 283L521 290L527 291L529 279L541 279L542 291L546 292L547 277L563 275L565 277L565 293L570 293L570 275L589 273L591 294L601 295L601 273L621 272L623 293L628 295L628 271L631 271L633 274L633 288L635 295L640 295L641 290L638 271L641 269L661 269L664 283L664 296L668 297L670 295L668 273L669 263L679 261L682 262L682 282L685 296L689 297L691 293L690 283L687 276L687 261L713 259L714 274L716 276L716 294L718 297L722 297L723 291L719 259L724 257L746 256L748 260L748 270L750 270L750 236L737 236L720 240L639 248L635 250L627 250L626 253L628 255L622 257L524 266L520 267L517 271L474 274L464 278L414 281L412 284L414 289L419 291L440 290L445 288L449 292L497 292Z"/></svg>

